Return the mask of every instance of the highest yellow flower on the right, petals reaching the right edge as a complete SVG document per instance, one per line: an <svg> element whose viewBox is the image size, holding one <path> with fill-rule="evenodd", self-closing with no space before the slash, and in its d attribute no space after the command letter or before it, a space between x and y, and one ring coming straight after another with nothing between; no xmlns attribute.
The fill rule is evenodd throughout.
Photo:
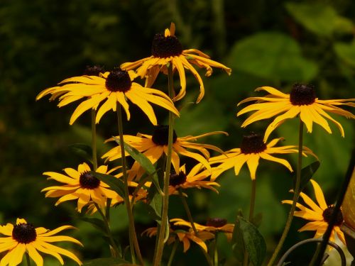
<svg viewBox="0 0 355 266"><path fill-rule="evenodd" d="M273 87L261 87L256 89L256 91L266 91L269 94L263 97L249 97L239 102L239 104L243 104L248 101L257 101L256 104L246 106L236 115L240 116L243 113L256 111L244 121L241 125L242 127L262 119L277 116L266 129L264 141L268 139L268 136L275 128L280 126L286 119L294 118L297 114L300 114L300 119L305 123L309 133L312 133L313 122L322 126L328 133L332 133L325 119L327 118L337 125L343 137L344 129L342 125L332 116L329 116L328 113L336 113L346 118L355 118L349 111L338 107L342 105L354 107L355 105L352 101L355 101L355 99L320 100L315 94L315 88L310 85L297 83L293 85L290 94L284 94Z"/></svg>

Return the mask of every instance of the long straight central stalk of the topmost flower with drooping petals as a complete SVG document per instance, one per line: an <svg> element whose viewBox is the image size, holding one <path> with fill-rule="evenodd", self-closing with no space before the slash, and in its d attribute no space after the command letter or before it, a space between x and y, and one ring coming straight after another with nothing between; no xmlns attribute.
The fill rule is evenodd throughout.
<svg viewBox="0 0 355 266"><path fill-rule="evenodd" d="M168 88L169 88L169 96L170 99L173 98L174 95L174 87L173 87L173 65L170 64L168 66ZM160 228L157 235L157 245L155 246L154 253L154 266L159 266L161 262L161 258L163 256L164 249L164 239L165 239L165 231L168 224L168 208L169 208L169 179L170 179L170 167L171 167L171 153L173 150L173 132L174 132L174 118L175 115L172 112L169 112L169 131L168 131L168 154L166 156L166 165L165 165L165 176L164 176L164 187L163 187L163 209L161 214L161 223Z"/></svg>

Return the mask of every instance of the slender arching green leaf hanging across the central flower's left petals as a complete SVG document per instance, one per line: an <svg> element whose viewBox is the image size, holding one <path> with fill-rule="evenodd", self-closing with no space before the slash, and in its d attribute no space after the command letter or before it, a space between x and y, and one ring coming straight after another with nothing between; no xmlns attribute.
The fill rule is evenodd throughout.
<svg viewBox="0 0 355 266"><path fill-rule="evenodd" d="M119 138L116 138L115 136L113 137L114 140L116 141L117 144L120 144ZM146 170L146 172L151 175L151 180L155 187L157 187L158 192L160 194L163 194L163 192L160 189L159 182L158 182L158 174L155 170L154 165L151 163L151 161L143 155L143 153L140 153L136 148L133 148L131 145L124 143L124 150L126 150L131 157L136 160L143 168Z"/></svg>

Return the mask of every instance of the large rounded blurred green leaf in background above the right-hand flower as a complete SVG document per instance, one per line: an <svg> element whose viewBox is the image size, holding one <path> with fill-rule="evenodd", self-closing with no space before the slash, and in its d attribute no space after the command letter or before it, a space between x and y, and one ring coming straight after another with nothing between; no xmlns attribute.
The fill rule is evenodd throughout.
<svg viewBox="0 0 355 266"><path fill-rule="evenodd" d="M278 32L256 33L239 40L231 50L232 68L276 81L308 81L318 72L314 62L302 57L300 45Z"/></svg>

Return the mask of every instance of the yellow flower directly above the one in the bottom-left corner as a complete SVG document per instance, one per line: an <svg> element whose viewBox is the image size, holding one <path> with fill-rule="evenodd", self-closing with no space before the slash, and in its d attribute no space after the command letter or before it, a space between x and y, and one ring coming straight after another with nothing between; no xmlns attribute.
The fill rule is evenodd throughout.
<svg viewBox="0 0 355 266"><path fill-rule="evenodd" d="M107 171L107 165L101 165L96 172L110 174L114 170ZM93 201L99 206L104 206L107 198L115 199L117 194L109 189L107 184L90 174L90 171L89 165L84 162L77 167L77 170L65 168L64 172L67 175L57 172L44 172L43 174L48 175L48 179L54 179L65 185L46 187L42 189L42 192L45 192L45 197L60 197L55 202L55 206L64 201L77 200L77 211L79 212L89 201Z"/></svg>

